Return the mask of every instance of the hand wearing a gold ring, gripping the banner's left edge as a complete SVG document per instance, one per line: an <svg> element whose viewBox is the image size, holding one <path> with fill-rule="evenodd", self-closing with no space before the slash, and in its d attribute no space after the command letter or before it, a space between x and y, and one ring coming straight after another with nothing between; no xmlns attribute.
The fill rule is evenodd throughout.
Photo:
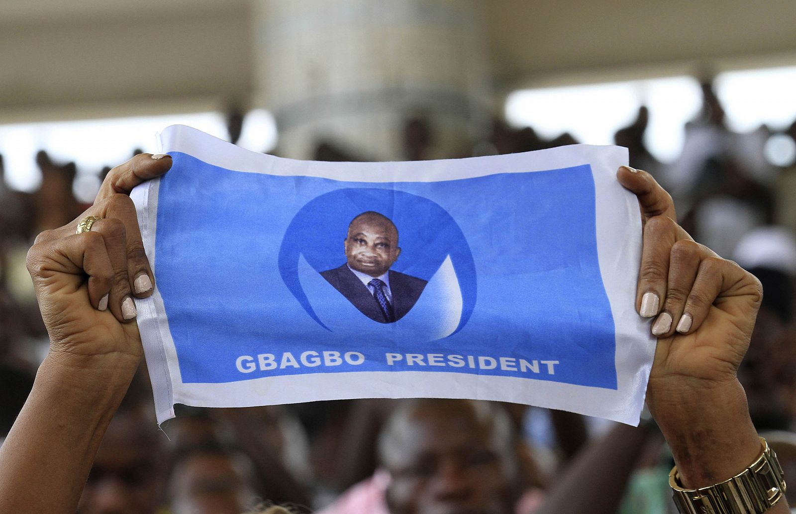
<svg viewBox="0 0 796 514"><path fill-rule="evenodd" d="M154 277L128 195L170 167L168 155L136 155L111 169L92 207L71 224L36 238L27 266L51 356L68 358L77 366L96 364L96 358L106 356L139 364L142 347L138 326L132 322L132 298L152 294ZM76 234L85 216L101 219L90 232Z"/></svg>

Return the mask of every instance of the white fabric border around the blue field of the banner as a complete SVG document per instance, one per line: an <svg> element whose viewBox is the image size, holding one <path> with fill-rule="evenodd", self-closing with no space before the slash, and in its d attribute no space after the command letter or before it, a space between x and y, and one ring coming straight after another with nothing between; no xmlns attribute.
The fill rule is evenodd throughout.
<svg viewBox="0 0 796 514"><path fill-rule="evenodd" d="M634 306L642 224L636 198L616 180L618 166L627 163L625 148L573 145L525 154L425 162L311 162L258 154L181 125L167 127L158 134L158 146L163 153L182 152L226 169L338 181L444 181L590 164L595 181L599 267L615 323L618 380L615 391L548 380L455 372L334 372L220 384L183 384L156 284L154 294L136 299L136 306L158 423L174 417L174 403L252 407L326 399L418 397L528 403L638 425L655 339L650 334L649 321L639 317ZM131 193L146 255L155 273L158 184L158 180L146 181Z"/></svg>

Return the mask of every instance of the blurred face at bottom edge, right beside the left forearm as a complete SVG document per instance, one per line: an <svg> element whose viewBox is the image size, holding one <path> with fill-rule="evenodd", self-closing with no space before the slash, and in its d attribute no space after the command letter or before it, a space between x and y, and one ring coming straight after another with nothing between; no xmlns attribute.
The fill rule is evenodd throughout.
<svg viewBox="0 0 796 514"><path fill-rule="evenodd" d="M154 514L166 472L166 452L154 426L142 411L115 416L80 496L80 514Z"/></svg>

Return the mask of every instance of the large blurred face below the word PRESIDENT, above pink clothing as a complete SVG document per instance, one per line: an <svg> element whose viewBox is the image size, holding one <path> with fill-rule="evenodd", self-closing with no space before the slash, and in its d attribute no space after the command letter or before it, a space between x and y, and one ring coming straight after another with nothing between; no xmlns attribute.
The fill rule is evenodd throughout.
<svg viewBox="0 0 796 514"><path fill-rule="evenodd" d="M509 514L509 443L474 403L420 403L382 442L392 514ZM505 439L505 438L504 438Z"/></svg>

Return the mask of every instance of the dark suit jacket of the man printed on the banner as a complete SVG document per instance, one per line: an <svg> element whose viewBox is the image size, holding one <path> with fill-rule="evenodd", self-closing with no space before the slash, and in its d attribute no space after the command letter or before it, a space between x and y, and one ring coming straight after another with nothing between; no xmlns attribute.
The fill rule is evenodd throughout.
<svg viewBox="0 0 796 514"><path fill-rule="evenodd" d="M404 275L392 270L388 271L388 274L390 292L392 293L392 310L395 313L396 321L398 321L415 305L427 281L423 280L423 278ZM357 275L353 274L348 264L343 264L341 267L336 267L332 270L321 271L321 276L326 278L326 282L329 282L334 286L334 289L340 291L365 316L379 323L387 322L384 320L384 314L381 313L377 299L370 293L365 284L357 278Z"/></svg>

